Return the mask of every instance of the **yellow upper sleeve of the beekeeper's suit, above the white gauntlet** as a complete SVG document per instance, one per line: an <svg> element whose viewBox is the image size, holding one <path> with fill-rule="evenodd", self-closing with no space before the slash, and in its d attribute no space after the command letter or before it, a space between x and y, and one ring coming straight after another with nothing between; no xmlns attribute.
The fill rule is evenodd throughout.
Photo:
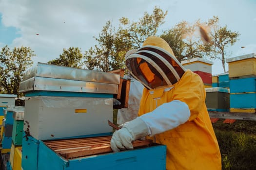
<svg viewBox="0 0 256 170"><path fill-rule="evenodd" d="M189 121L196 119L205 104L204 85L199 75L187 70L175 85L172 100L185 102L190 110Z"/></svg>

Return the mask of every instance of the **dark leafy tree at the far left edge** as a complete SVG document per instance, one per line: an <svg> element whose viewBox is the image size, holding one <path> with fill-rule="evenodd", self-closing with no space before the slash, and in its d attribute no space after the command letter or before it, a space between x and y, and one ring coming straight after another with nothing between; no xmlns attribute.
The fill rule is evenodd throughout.
<svg viewBox="0 0 256 170"><path fill-rule="evenodd" d="M12 51L6 45L0 51L0 86L4 93L17 94L23 72L31 67L31 58L36 56L29 47L14 48Z"/></svg>

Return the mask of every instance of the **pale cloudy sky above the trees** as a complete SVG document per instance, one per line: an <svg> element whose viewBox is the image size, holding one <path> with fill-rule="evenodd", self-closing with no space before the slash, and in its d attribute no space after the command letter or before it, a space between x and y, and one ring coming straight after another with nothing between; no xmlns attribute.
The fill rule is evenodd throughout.
<svg viewBox="0 0 256 170"><path fill-rule="evenodd" d="M47 63L63 48L89 50L108 20L117 28L119 18L138 21L155 6L168 12L158 35L182 20L217 16L220 26L240 34L226 57L256 53L256 0L0 0L0 48L30 47L34 63ZM213 62L212 74L223 73L221 61Z"/></svg>

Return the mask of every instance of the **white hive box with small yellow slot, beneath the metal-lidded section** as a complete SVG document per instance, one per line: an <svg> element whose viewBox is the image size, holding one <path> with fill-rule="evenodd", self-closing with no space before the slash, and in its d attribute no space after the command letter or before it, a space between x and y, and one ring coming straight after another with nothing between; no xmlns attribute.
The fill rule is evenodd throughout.
<svg viewBox="0 0 256 170"><path fill-rule="evenodd" d="M111 133L107 120L113 120L112 98L38 96L25 102L24 131L38 140Z"/></svg>

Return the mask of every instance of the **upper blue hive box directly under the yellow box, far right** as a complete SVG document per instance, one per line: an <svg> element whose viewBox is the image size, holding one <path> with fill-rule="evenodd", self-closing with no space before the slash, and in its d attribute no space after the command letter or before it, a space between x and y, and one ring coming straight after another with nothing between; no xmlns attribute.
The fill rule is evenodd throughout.
<svg viewBox="0 0 256 170"><path fill-rule="evenodd" d="M256 77L230 80L230 93L248 92L256 92Z"/></svg>

